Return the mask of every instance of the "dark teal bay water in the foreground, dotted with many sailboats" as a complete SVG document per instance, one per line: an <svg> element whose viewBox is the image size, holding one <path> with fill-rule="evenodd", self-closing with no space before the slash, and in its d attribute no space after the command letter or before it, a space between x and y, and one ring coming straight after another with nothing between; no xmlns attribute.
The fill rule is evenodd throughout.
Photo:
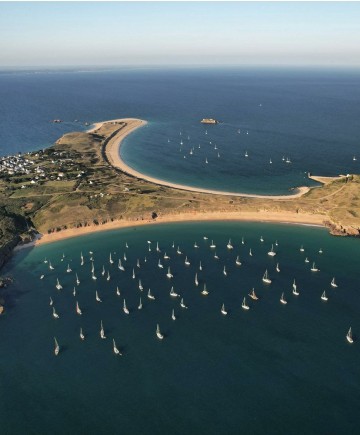
<svg viewBox="0 0 360 435"><path fill-rule="evenodd" d="M229 238L233 250L226 248ZM218 260L209 247L212 239ZM267 252L276 240L277 255L271 258ZM155 250L157 241L161 253ZM182 255L176 253L178 245ZM96 281L91 279L89 251ZM165 251L169 260L163 258ZM126 270L121 272L117 260L124 252ZM4 271L15 282L6 314L0 317L2 432L358 433L359 254L357 240L332 237L325 229L236 222L143 226L21 251ZM186 255L190 266L184 264ZM237 255L241 266L235 265ZM304 262L306 256L310 263ZM164 269L157 266L159 258ZM310 271L313 261L320 272ZM68 263L71 273L66 272ZM172 280L165 276L168 264ZM110 281L101 275L103 265ZM265 269L271 285L262 282ZM199 287L194 284L196 271ZM75 272L81 281L76 298ZM330 286L333 276L336 289ZM57 277L62 291L55 288ZM294 278L298 297L291 293ZM200 294L204 282L207 297ZM188 309L169 296L171 285ZM155 301L146 297L149 287ZM242 310L241 301L252 287L259 300L247 297L250 310ZM102 303L95 300L96 290ZM324 290L327 302L320 300ZM287 305L279 302L282 292ZM49 297L59 319L51 315ZM129 316L122 311L123 297ZM82 316L75 313L76 300ZM220 313L222 303L227 316ZM106 340L99 337L100 320ZM157 323L163 341L155 336ZM353 345L345 340L350 326ZM53 354L54 336L61 347L58 357ZM113 354L112 338L122 357Z"/></svg>

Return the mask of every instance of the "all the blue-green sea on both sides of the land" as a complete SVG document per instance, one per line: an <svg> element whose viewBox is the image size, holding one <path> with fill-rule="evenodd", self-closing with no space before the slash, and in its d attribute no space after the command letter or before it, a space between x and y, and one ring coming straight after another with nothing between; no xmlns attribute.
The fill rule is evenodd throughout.
<svg viewBox="0 0 360 435"><path fill-rule="evenodd" d="M193 186L286 194L309 185L308 171L359 172L359 85L355 71L6 71L0 154L47 147L85 123L139 117L148 125L122 146L134 168ZM221 123L206 127L203 117ZM1 432L357 434L359 259L357 239L324 228L229 221L133 227L24 249L1 271L14 279L0 316ZM172 286L188 308L169 295ZM248 296L253 288L257 301Z"/></svg>

